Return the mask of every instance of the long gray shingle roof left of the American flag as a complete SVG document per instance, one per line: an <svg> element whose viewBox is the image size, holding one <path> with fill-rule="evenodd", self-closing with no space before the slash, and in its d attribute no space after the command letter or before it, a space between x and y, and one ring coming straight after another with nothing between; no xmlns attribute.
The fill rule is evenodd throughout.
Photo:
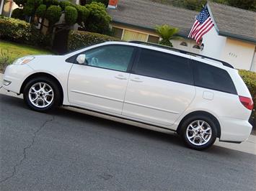
<svg viewBox="0 0 256 191"><path fill-rule="evenodd" d="M180 29L187 37L195 22L196 11L159 4L150 0L119 0L118 9L107 9L113 22L135 27L154 29L156 25L169 24Z"/></svg>

